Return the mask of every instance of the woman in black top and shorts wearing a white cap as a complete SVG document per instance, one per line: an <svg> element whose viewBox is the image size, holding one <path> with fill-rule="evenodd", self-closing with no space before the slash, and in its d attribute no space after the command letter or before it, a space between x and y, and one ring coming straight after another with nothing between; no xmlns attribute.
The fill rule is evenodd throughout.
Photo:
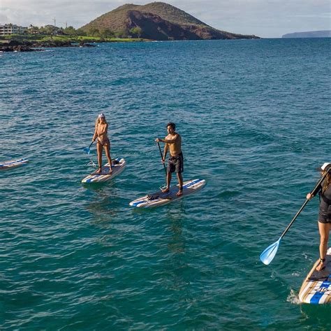
<svg viewBox="0 0 331 331"><path fill-rule="evenodd" d="M325 175L328 171L323 182L318 186L315 195L320 195L320 207L318 212L318 230L321 236L320 241L320 263L317 265L316 270L321 271L325 268L325 257L328 249L328 240L331 230L331 163L324 163L318 171ZM315 196L314 195L314 196ZM310 200L314 197L311 193L307 194L307 199Z"/></svg>

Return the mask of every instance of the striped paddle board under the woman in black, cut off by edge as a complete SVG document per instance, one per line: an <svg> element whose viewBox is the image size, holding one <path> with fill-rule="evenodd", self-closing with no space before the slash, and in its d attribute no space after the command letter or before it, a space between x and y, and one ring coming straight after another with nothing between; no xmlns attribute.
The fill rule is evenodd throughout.
<svg viewBox="0 0 331 331"><path fill-rule="evenodd" d="M317 271L320 259L316 261L306 279L302 283L299 300L309 304L331 303L331 247L328 249L325 269Z"/></svg>

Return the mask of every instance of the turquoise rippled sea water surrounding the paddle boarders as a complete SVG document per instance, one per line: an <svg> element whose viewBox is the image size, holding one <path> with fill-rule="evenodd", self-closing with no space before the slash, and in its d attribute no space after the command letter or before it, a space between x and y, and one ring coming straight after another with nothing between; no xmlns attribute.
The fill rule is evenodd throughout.
<svg viewBox="0 0 331 331"><path fill-rule="evenodd" d="M330 330L298 304L318 258L318 199L276 241L330 161L330 39L112 43L0 54L3 330ZM127 167L83 186L94 120ZM203 191L128 207L164 183L154 138L177 124ZM94 154L94 161L95 154Z"/></svg>

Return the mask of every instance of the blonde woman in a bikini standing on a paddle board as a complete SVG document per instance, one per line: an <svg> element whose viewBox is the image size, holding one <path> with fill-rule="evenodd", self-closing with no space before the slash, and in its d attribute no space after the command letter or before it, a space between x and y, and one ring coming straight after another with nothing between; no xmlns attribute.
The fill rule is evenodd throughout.
<svg viewBox="0 0 331 331"><path fill-rule="evenodd" d="M96 140L97 139L97 140ZM100 114L96 119L96 128L92 142L96 140L96 151L98 152L98 165L99 168L96 173L102 171L102 150L105 149L105 155L107 156L109 167L109 173L112 173L112 158L110 157L110 141L108 138L108 123L105 120L105 115Z"/></svg>

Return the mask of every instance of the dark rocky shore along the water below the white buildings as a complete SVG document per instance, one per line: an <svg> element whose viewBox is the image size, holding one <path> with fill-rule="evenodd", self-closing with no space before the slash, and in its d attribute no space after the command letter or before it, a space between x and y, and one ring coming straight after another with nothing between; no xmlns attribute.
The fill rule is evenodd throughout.
<svg viewBox="0 0 331 331"><path fill-rule="evenodd" d="M0 41L0 52L35 52L48 47L95 47L95 45L71 41Z"/></svg>

